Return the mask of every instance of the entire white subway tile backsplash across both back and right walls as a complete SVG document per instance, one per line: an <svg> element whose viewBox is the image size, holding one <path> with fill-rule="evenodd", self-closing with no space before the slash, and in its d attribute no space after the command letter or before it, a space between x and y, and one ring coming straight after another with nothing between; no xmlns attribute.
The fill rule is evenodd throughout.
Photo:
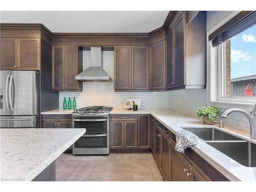
<svg viewBox="0 0 256 192"><path fill-rule="evenodd" d="M83 51L83 70L90 66L90 51ZM114 51L103 51L103 69L110 75L109 82L83 82L82 92L59 92L59 106L64 97L76 97L77 108L89 105L109 105L123 108L125 98L140 98L141 108L173 109L196 117L196 110L206 105L206 90L177 90L169 92L115 92ZM178 103L180 99L180 104ZM219 109L220 112L226 109ZM224 125L249 132L248 120L239 113L223 119Z"/></svg>

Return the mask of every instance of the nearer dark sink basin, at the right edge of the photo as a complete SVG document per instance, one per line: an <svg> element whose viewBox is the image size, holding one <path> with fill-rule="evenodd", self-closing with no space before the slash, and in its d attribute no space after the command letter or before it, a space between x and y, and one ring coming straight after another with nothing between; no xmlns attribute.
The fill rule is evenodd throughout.
<svg viewBox="0 0 256 192"><path fill-rule="evenodd" d="M247 167L256 167L256 144L248 141L206 141L221 153Z"/></svg>

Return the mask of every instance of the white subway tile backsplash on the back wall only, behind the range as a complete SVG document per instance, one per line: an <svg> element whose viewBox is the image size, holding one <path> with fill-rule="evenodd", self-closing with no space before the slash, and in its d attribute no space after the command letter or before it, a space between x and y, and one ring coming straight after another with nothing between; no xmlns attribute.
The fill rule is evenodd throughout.
<svg viewBox="0 0 256 192"><path fill-rule="evenodd" d="M90 51L83 51L83 70L90 67ZM90 105L109 105L123 108L126 98L140 98L141 108L169 108L168 92L115 92L114 51L103 51L103 69L112 79L110 82L83 82L82 92L59 92L59 106L64 97L76 97L77 108Z"/></svg>

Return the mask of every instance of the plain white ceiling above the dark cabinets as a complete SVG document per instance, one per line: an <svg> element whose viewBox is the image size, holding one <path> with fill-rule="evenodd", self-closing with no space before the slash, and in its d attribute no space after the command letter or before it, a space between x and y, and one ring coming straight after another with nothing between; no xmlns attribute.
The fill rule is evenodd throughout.
<svg viewBox="0 0 256 192"><path fill-rule="evenodd" d="M168 11L1 11L1 23L41 23L52 32L144 33L161 27Z"/></svg>

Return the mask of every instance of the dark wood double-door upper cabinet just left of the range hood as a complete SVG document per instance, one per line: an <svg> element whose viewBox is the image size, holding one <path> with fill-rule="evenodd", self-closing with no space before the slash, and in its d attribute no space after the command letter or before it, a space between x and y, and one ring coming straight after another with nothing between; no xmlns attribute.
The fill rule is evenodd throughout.
<svg viewBox="0 0 256 192"><path fill-rule="evenodd" d="M82 82L75 80L82 66L79 54L77 46L52 46L52 90L82 91Z"/></svg>

